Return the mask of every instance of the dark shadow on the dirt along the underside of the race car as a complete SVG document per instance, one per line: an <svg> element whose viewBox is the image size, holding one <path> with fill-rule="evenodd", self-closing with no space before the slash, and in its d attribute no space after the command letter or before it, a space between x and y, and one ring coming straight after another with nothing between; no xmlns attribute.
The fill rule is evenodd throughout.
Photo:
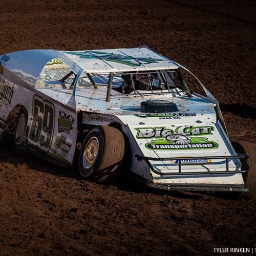
<svg viewBox="0 0 256 256"><path fill-rule="evenodd" d="M33 169L35 172L42 172L51 174L53 176L65 177L70 179L75 179L77 181L86 181L89 183L94 183L93 181L87 181L81 178L78 168L75 167L59 167L56 164L49 163L44 159L41 159L31 153L22 150L16 150L13 147L8 147L6 145L0 145L0 166L1 163L7 163L14 166L26 165L26 168ZM0 167L0 171L1 171ZM120 191L127 191L136 194L152 194L156 196L170 196L179 199L200 199L205 195L219 198L218 193L207 193L202 191L169 191L164 189L157 189L146 184L143 184L135 179L132 179L123 172L120 172L117 180L111 184L98 184L98 186L112 186ZM229 195L229 194L227 194ZM223 193L221 196L223 197ZM228 197L226 197L229 199ZM233 199L231 197L230 199Z"/></svg>

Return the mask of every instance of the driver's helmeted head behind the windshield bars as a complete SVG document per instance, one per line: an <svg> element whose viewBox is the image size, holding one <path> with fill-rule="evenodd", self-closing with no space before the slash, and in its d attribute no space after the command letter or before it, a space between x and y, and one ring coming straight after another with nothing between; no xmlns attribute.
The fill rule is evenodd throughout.
<svg viewBox="0 0 256 256"><path fill-rule="evenodd" d="M137 73L134 75L135 90L156 90L159 86L159 78L153 73Z"/></svg>

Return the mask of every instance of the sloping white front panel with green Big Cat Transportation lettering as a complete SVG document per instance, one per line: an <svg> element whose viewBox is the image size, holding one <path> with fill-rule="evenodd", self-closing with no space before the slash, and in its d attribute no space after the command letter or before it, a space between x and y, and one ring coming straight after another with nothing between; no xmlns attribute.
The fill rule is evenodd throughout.
<svg viewBox="0 0 256 256"><path fill-rule="evenodd" d="M182 160L182 170L224 172L226 158L235 153L221 124L210 119L210 115L206 116L207 121L196 113L136 115L120 119L127 123L136 141L133 155L157 159L149 159L153 169L161 173L178 172L178 159L183 157L188 159ZM229 160L229 170L238 170L238 167L237 159Z"/></svg>

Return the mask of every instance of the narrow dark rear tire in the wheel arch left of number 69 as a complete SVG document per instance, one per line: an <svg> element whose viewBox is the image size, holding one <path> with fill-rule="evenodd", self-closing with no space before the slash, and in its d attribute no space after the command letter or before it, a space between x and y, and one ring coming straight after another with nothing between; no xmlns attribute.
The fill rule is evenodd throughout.
<svg viewBox="0 0 256 256"><path fill-rule="evenodd" d="M24 106L22 106L17 115L15 135L14 135L15 148L19 148L24 141L23 137L26 133L27 123L28 123L28 112L24 108Z"/></svg>

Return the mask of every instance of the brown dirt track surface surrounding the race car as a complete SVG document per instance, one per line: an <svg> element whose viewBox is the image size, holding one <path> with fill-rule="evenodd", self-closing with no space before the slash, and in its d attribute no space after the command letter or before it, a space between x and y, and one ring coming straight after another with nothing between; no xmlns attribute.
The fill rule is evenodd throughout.
<svg viewBox="0 0 256 256"><path fill-rule="evenodd" d="M256 143L255 1L2 0L0 54L146 45L195 73ZM209 255L256 247L256 200L81 180L0 147L0 255ZM256 253L256 251L255 251ZM238 254L237 254L238 255Z"/></svg>

